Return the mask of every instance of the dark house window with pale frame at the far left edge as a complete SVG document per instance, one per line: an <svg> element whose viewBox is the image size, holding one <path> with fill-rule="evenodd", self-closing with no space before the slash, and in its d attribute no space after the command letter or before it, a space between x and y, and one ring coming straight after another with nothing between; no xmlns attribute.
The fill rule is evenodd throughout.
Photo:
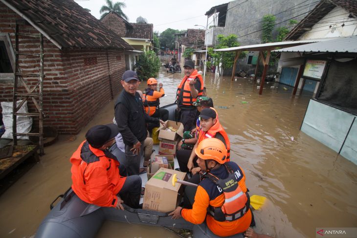
<svg viewBox="0 0 357 238"><path fill-rule="evenodd" d="M0 80L14 80L15 56L7 35L0 35Z"/></svg>

